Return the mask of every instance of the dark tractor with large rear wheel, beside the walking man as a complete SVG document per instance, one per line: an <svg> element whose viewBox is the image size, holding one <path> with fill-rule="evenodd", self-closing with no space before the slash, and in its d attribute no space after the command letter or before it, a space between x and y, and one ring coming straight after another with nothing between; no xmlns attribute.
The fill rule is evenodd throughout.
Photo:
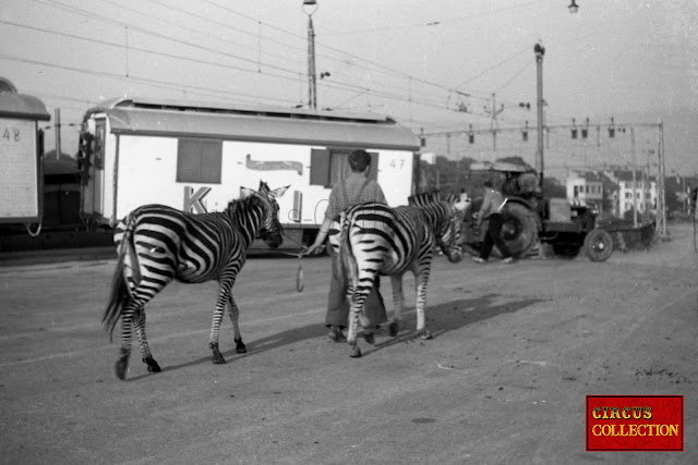
<svg viewBox="0 0 698 465"><path fill-rule="evenodd" d="M580 249L592 261L604 261L613 253L613 237L597 227L597 211L586 205L570 205L566 198L544 198L537 172L514 163L473 163L471 171L488 171L503 179L502 238L515 257L556 255L574 257ZM484 229L477 228L473 213L480 210L482 197L474 198L464 216L465 245L478 248Z"/></svg>

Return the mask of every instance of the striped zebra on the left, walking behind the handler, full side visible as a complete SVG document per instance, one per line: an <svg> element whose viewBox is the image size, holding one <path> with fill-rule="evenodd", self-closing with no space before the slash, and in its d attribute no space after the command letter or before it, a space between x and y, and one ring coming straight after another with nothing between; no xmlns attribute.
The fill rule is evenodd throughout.
<svg viewBox="0 0 698 465"><path fill-rule="evenodd" d="M245 262L246 250L257 234L272 248L281 245L276 198L287 188L269 191L267 184L261 182L256 192L241 189L243 198L231 201L226 211L204 215L164 205L145 205L119 223L115 233L119 257L111 295L101 319L110 338L121 319L117 377L125 378L134 328L148 371L160 371L145 336L145 305L172 280L183 283L216 280L220 284L208 341L214 364L226 363L218 350L218 331L226 303L232 320L236 351L246 352L231 290Z"/></svg>

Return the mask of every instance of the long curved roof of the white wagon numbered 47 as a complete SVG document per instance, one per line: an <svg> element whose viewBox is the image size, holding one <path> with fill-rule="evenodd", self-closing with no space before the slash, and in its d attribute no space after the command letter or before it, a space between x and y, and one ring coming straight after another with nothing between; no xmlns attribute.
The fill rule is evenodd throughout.
<svg viewBox="0 0 698 465"><path fill-rule="evenodd" d="M117 99L89 110L106 113L111 132L232 140L327 146L365 146L418 150L409 129L385 115L281 107L217 103L186 105L147 99Z"/></svg>

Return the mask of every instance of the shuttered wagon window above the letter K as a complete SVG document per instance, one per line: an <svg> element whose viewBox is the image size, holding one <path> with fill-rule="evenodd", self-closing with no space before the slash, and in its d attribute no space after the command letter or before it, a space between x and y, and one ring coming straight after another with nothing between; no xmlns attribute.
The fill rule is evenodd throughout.
<svg viewBox="0 0 698 465"><path fill-rule="evenodd" d="M177 182L220 184L222 142L180 138L177 147Z"/></svg>

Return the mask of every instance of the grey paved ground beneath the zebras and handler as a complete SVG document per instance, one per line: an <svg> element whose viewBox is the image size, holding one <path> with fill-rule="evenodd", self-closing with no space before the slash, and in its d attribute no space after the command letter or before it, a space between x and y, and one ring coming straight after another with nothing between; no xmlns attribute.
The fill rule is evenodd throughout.
<svg viewBox="0 0 698 465"><path fill-rule="evenodd" d="M135 356L125 382L99 325L112 259L5 262L0 462L698 463L698 254L670 231L604 264L440 257L435 338L412 339L408 311L360 359L325 339L327 258L304 260L302 293L296 259L253 258L234 287L246 355L226 321L214 366L215 285L172 284L147 307L164 371ZM684 395L685 452L585 452L589 394Z"/></svg>

